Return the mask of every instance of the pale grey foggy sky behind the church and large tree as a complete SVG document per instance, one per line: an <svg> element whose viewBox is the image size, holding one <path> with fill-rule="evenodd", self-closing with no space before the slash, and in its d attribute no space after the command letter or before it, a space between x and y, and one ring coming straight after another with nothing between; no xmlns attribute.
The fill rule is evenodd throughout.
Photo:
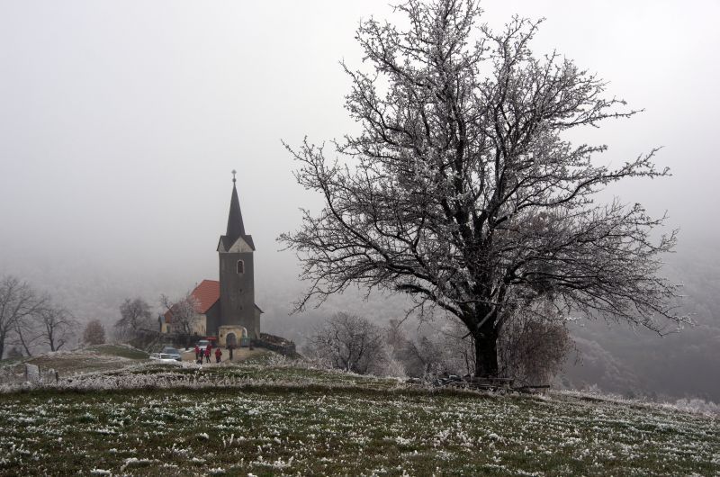
<svg viewBox="0 0 720 477"><path fill-rule="evenodd" d="M689 310L720 337L720 308L708 302L720 284L720 4L482 5L483 22L495 28L512 14L545 17L537 54L557 49L607 79L609 94L645 110L577 140L608 144L598 158L608 164L663 147L657 163L671 177L631 181L605 197L668 211L681 234L667 273L691 284ZM257 246L257 302L269 329L301 339L311 319L287 312L303 285L295 257L275 238L299 226L299 207L317 211L321 202L295 184L281 139L298 144L307 134L319 143L356 130L338 60L363 67L354 35L371 15L393 18L385 1L0 1L0 275L47 290L81 320L107 323L125 297L156 303L159 293L215 279L237 169ZM397 300L373 300L379 320L401 313ZM362 306L338 297L310 315ZM579 333L590 344L608 342L603 327ZM689 331L677 347L698 347L691 337L703 333ZM667 343L649 339L647 349ZM720 368L704 346L692 363L707 358ZM644 372L636 356L616 351L632 373ZM720 401L717 388L689 392Z"/></svg>

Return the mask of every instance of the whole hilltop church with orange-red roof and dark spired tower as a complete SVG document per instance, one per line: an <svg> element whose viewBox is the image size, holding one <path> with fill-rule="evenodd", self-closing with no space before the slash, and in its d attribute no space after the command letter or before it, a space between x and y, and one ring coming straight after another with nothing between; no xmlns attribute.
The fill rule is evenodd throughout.
<svg viewBox="0 0 720 477"><path fill-rule="evenodd" d="M203 280L191 293L197 313L192 333L216 337L221 347L237 346L241 338L259 339L263 312L255 303L255 244L245 233L235 174L232 171L228 229L220 236L217 248L220 280ZM173 324L172 309L160 317L160 331L181 332Z"/></svg>

